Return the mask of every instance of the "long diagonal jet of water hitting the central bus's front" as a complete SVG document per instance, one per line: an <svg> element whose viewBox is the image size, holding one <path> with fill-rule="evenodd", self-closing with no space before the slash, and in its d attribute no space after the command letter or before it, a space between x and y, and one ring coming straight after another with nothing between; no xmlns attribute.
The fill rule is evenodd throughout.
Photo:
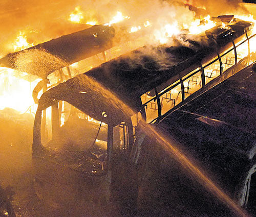
<svg viewBox="0 0 256 217"><path fill-rule="evenodd" d="M101 94L104 95L104 97L108 99L113 104L113 106L120 109L126 116L131 117L135 114L135 112L129 106L123 103L111 91L102 87L98 82L94 81L88 76L86 76L83 82L85 82L86 84L88 84L88 82L92 84L95 91L101 92ZM250 216L248 213L245 212L245 210L240 208L228 195L226 195L219 186L217 186L211 179L209 179L206 173L203 170L199 169L199 167L195 165L192 160L190 160L191 158L189 159L179 150L178 147L175 146L175 144L177 144L175 139L170 138L169 136L167 139L164 135L154 129L152 125L146 124L146 122L143 120L139 123L139 126L141 127L141 129L144 129L144 132L148 136L153 136L154 138L156 138L159 144L161 144L164 150L167 151L170 157L177 160L190 174L197 178L197 180L205 187L206 190L211 192L212 195L216 196L220 201L227 205L230 210L235 212L238 216Z"/></svg>

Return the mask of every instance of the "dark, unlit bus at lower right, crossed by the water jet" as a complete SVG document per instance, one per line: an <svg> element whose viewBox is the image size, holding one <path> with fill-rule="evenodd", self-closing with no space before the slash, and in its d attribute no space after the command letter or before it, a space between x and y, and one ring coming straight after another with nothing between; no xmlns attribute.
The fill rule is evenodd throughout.
<svg viewBox="0 0 256 217"><path fill-rule="evenodd" d="M255 73L251 66L242 69L157 124L251 216L256 214ZM239 216L208 195L155 138L138 150L142 216Z"/></svg>

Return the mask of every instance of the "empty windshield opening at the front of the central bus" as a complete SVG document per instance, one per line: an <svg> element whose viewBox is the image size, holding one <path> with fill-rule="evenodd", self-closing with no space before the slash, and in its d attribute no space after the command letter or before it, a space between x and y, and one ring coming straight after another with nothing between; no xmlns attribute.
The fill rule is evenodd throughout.
<svg viewBox="0 0 256 217"><path fill-rule="evenodd" d="M107 124L65 101L58 102L57 107L47 108L41 123L41 142L51 157L81 172L105 171Z"/></svg>

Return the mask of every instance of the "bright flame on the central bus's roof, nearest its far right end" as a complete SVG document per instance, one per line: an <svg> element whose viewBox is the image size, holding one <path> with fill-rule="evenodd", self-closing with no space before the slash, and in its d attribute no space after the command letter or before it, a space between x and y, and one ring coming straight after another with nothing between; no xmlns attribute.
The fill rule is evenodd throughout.
<svg viewBox="0 0 256 217"><path fill-rule="evenodd" d="M183 25L186 26L186 25ZM203 20L196 19L188 25L188 31L190 34L200 34L208 29L216 26L216 22L210 20L210 15L204 17Z"/></svg>

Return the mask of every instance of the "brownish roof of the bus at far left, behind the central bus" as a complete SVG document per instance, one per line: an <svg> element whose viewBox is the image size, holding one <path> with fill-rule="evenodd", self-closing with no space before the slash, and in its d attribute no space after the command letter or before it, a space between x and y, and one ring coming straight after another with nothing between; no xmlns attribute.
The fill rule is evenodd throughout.
<svg viewBox="0 0 256 217"><path fill-rule="evenodd" d="M16 62L19 58L26 59L30 58L31 55L36 55L34 53L30 54L30 52L35 50L46 52L56 58L56 60L59 59L59 61L54 62L51 58L42 59L44 63L41 63L38 69L33 68L26 71L26 73L47 78L49 74L59 68L110 49L114 36L115 30L113 27L95 25L88 29L37 44L22 51L10 53L0 59L0 63L5 67L19 69Z"/></svg>

